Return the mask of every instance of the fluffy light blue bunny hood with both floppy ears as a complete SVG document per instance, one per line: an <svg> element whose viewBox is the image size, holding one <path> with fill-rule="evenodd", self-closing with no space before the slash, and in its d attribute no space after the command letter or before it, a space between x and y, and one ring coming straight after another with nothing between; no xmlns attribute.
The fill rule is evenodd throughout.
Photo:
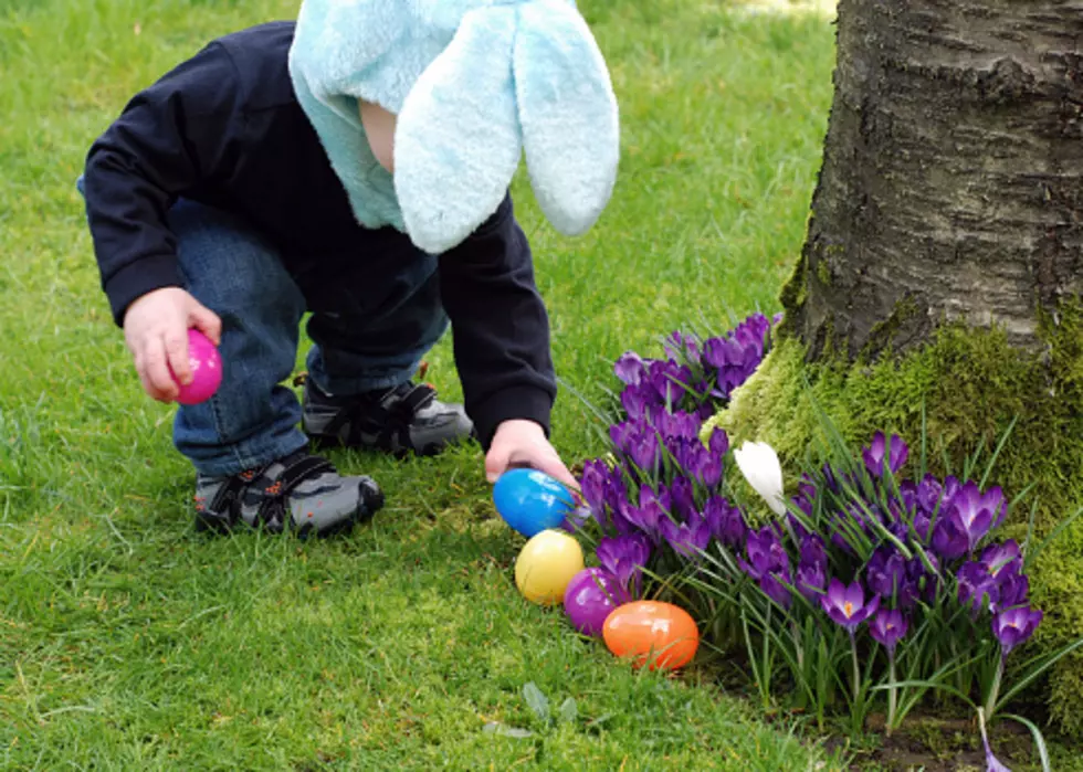
<svg viewBox="0 0 1083 772"><path fill-rule="evenodd" d="M496 211L524 151L561 233L583 233L609 202L617 99L571 0L304 0L290 72L357 220L425 252ZM393 173L359 99L398 116Z"/></svg>

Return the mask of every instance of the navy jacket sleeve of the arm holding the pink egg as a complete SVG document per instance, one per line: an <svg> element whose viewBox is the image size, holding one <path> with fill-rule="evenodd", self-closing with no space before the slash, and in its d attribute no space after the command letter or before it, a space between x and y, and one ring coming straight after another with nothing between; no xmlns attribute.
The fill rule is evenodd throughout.
<svg viewBox="0 0 1083 772"><path fill-rule="evenodd" d="M139 296L182 286L166 213L235 163L238 83L229 54L212 43L133 97L87 154L87 222L118 326Z"/></svg>

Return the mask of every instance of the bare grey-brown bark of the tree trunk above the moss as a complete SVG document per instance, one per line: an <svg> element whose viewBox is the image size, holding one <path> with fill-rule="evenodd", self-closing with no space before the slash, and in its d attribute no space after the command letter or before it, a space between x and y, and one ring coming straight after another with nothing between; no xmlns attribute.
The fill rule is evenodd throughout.
<svg viewBox="0 0 1083 772"><path fill-rule="evenodd" d="M841 0L834 101L784 303L812 359L942 321L1035 348L1083 290L1083 1Z"/></svg>

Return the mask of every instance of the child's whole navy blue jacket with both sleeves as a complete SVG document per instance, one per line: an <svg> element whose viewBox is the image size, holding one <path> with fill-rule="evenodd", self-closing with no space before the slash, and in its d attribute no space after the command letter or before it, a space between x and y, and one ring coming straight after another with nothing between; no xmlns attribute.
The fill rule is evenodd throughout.
<svg viewBox="0 0 1083 772"><path fill-rule="evenodd" d="M404 235L354 219L293 93L293 22L273 22L211 42L137 94L91 148L87 216L118 325L145 293L183 286L165 222L180 197L248 219L294 275L311 273L314 262L364 261L389 244L416 248ZM439 260L466 411L482 444L507 419L530 419L548 432L556 395L549 324L511 199Z"/></svg>

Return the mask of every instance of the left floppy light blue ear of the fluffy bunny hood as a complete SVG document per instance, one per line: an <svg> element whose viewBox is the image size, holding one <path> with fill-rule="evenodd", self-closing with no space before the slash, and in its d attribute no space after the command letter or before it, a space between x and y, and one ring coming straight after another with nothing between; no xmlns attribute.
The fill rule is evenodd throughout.
<svg viewBox="0 0 1083 772"><path fill-rule="evenodd" d="M395 190L410 237L427 252L445 252L487 220L518 167L515 30L514 7L467 12L399 113Z"/></svg>

